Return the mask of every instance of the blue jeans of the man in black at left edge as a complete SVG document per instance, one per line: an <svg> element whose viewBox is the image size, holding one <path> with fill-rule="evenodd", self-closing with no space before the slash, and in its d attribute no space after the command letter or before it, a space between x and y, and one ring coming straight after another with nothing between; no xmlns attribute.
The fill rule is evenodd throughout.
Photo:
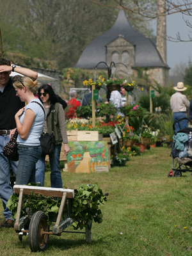
<svg viewBox="0 0 192 256"><path fill-rule="evenodd" d="M10 161L3 155L3 148L6 143L10 141L9 135L0 135L0 198L3 201L3 216L8 219L12 219L12 212L6 207L6 202L10 199L13 194L13 189L10 184L10 172L13 170L15 176L17 175L17 162ZM12 219L13 220L13 219Z"/></svg>

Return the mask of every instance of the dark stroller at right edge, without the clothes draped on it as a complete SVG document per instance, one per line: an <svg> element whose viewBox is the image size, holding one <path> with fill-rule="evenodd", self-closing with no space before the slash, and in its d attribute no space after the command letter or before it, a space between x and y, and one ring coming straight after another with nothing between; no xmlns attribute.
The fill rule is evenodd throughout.
<svg viewBox="0 0 192 256"><path fill-rule="evenodd" d="M173 130L175 131L175 124L177 122L180 122L181 120L187 119L190 124L192 124L191 120L187 117L180 118L173 124ZM187 135L189 132L192 132L192 128L184 128L180 130L179 132L184 132ZM178 133L178 132L177 132ZM176 135L176 133L175 133ZM182 172L190 172L190 176L192 176L192 157L184 157L179 158L179 150L175 148L175 142L173 141L172 144L172 153L170 156L172 157L172 171L168 172L168 177L181 177Z"/></svg>

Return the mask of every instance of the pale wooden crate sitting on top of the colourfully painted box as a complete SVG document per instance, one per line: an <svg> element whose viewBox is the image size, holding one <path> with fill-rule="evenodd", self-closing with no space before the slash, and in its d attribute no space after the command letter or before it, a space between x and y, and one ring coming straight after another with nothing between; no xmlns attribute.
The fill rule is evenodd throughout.
<svg viewBox="0 0 192 256"><path fill-rule="evenodd" d="M77 141L101 141L102 134L98 131L77 131Z"/></svg>

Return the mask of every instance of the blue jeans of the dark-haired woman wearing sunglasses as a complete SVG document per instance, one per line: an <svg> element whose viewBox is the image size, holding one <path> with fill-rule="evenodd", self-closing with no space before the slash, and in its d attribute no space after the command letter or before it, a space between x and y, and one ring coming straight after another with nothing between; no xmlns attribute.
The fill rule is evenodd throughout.
<svg viewBox="0 0 192 256"><path fill-rule="evenodd" d="M63 188L63 182L61 178L60 170L60 152L61 144L58 144L54 148L54 153L49 155L49 162L51 166L51 188ZM45 180L45 155L42 154L38 162L36 163L36 182L41 182L44 186Z"/></svg>

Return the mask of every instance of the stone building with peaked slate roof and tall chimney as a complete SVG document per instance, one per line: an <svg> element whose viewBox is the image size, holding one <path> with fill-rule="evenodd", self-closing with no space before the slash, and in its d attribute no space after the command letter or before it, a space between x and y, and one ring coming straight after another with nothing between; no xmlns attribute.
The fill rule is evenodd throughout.
<svg viewBox="0 0 192 256"><path fill-rule="evenodd" d="M138 77L138 69L145 68L150 83L154 80L161 86L168 86L169 67L166 64L166 18L157 20L157 37L147 38L131 27L124 10L120 10L115 24L106 33L95 38L84 49L75 68L94 69L99 62L110 65L124 63L132 78ZM165 36L164 36L165 37ZM127 74L124 65L116 65L116 71L122 76ZM101 63L98 69L106 69ZM143 85L140 80L139 85Z"/></svg>

